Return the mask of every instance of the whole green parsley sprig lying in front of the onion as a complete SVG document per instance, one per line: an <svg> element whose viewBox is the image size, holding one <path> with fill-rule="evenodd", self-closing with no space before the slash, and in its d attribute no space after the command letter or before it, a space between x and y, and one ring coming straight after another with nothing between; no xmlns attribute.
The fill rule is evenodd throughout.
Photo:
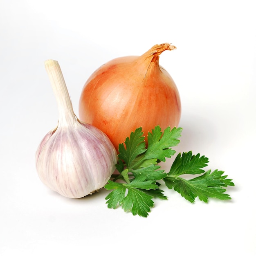
<svg viewBox="0 0 256 256"><path fill-rule="evenodd" d="M162 170L159 162L165 162L176 152L172 147L180 142L182 128L167 127L162 132L155 126L148 132L148 146L141 128L131 132L124 144L119 144L118 163L119 174L112 175L112 180L104 186L112 190L107 197L108 208L116 209L121 206L124 211L131 211L133 215L147 217L150 208L154 206L153 198L166 200L161 184L164 181L168 189L174 189L190 202L195 198L208 202L208 198L221 200L231 199L223 187L234 186L224 171L204 171L208 158L192 152L179 153L168 173ZM185 179L181 175L198 175L192 179ZM117 182L119 181L119 182Z"/></svg>

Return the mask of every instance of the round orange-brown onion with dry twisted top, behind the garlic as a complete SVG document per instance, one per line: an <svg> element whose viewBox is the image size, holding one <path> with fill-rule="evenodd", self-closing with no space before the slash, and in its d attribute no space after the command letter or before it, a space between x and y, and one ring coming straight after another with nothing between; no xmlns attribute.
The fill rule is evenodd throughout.
<svg viewBox="0 0 256 256"><path fill-rule="evenodd" d="M141 56L115 58L99 67L81 92L79 119L103 131L117 150L136 128L147 135L157 125L178 126L180 95L159 65L159 55L173 49L169 43L154 45Z"/></svg>

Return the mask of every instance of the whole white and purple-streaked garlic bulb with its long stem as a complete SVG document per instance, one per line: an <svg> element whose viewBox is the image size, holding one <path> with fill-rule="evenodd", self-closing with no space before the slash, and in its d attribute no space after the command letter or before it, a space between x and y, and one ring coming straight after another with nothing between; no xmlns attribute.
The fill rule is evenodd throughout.
<svg viewBox="0 0 256 256"><path fill-rule="evenodd" d="M68 198L81 198L101 189L115 171L117 151L98 128L74 114L57 61L45 61L56 97L58 126L45 135L36 151L40 180Z"/></svg>

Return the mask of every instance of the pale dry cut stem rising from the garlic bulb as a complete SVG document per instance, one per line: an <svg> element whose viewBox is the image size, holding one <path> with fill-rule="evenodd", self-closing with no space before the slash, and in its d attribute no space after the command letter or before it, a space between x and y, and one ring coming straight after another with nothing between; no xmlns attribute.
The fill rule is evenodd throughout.
<svg viewBox="0 0 256 256"><path fill-rule="evenodd" d="M67 86L58 61L51 59L45 61L45 69L49 76L50 83L52 85L52 89L57 101L59 124L62 126L75 124L76 116L74 115L70 95L67 91Z"/></svg>

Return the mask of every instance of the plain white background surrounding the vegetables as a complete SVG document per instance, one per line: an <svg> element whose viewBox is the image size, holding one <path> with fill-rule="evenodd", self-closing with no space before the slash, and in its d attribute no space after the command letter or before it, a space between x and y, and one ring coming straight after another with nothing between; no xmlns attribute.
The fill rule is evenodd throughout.
<svg viewBox="0 0 256 256"><path fill-rule="evenodd" d="M0 256L256 255L255 27L253 0L0 0ZM104 190L79 200L49 191L34 159L58 121L44 61L61 65L78 113L100 65L166 42L177 50L160 65L182 100L176 150L225 171L232 200L191 204L166 191L142 218L108 209Z"/></svg>

